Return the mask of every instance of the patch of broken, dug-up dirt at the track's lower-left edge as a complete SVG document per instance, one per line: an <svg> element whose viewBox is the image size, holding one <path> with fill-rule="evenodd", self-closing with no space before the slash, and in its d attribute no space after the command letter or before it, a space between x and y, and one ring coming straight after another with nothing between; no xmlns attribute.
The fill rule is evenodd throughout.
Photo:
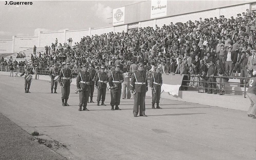
<svg viewBox="0 0 256 160"><path fill-rule="evenodd" d="M56 140L46 140L46 139L41 139L41 138L35 138L32 140L39 144L44 144L44 145L46 145L46 147L49 147L52 150L68 149L67 147L70 146L70 145L67 145L64 143L60 143Z"/></svg>

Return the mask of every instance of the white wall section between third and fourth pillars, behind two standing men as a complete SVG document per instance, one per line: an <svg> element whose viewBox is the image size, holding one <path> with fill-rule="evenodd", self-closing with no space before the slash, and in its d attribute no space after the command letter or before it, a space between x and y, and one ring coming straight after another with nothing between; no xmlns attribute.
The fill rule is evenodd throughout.
<svg viewBox="0 0 256 160"><path fill-rule="evenodd" d="M90 36L89 30L79 30L79 31L66 31L66 39L72 38L72 45L75 45L75 42L80 42L81 38Z"/></svg>

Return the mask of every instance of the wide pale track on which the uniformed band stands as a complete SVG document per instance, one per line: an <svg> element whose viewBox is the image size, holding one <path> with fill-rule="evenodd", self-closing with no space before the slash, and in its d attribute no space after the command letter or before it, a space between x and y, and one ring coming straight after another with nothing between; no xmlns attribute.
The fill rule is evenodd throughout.
<svg viewBox="0 0 256 160"><path fill-rule="evenodd" d="M24 77L0 80L0 112L28 133L70 145L56 151L67 159L255 159L256 119L245 111L169 99L154 110L147 97L148 117L133 117L133 99L111 111L107 92L107 106L89 103L79 112L74 85L63 107L60 86L50 94L49 81L34 79L25 94Z"/></svg>

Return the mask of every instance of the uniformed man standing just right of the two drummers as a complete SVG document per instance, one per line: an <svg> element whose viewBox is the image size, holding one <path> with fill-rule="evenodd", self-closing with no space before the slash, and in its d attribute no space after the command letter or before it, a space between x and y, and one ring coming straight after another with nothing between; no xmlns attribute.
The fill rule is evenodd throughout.
<svg viewBox="0 0 256 160"><path fill-rule="evenodd" d="M62 106L69 106L70 83L72 82L72 71L69 69L70 62L65 63L65 68L60 70L59 83L61 87ZM64 102L65 100L65 102Z"/></svg>

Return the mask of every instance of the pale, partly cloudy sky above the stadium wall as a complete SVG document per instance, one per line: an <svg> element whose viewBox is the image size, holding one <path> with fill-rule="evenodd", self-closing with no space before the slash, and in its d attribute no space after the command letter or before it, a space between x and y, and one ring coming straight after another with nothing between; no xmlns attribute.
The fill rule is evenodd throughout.
<svg viewBox="0 0 256 160"><path fill-rule="evenodd" d="M0 39L12 39L12 36L36 37L39 31L72 31L112 26L112 9L143 1L29 2L33 4L4 5L5 0L0 0Z"/></svg>

